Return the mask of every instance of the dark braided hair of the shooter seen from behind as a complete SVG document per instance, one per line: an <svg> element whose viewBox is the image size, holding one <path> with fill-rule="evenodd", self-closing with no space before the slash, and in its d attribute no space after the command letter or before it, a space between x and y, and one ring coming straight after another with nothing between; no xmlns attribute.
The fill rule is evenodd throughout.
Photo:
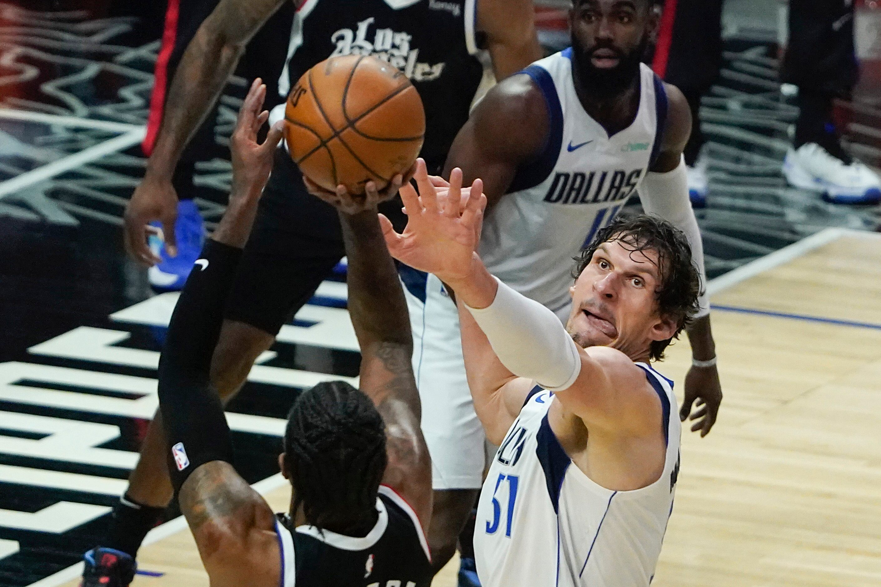
<svg viewBox="0 0 881 587"><path fill-rule="evenodd" d="M292 514L333 532L369 531L385 472L386 435L374 403L344 381L320 383L294 402L285 430Z"/></svg>

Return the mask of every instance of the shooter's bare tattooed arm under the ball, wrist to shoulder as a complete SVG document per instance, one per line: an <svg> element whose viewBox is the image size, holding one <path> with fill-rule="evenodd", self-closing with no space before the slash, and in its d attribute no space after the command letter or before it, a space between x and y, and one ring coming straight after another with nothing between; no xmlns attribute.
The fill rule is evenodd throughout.
<svg viewBox="0 0 881 587"><path fill-rule="evenodd" d="M407 303L376 209L339 216L349 258L349 312L361 347L360 388L386 423L389 466L382 482L411 504L427 532L432 466L419 427Z"/></svg>

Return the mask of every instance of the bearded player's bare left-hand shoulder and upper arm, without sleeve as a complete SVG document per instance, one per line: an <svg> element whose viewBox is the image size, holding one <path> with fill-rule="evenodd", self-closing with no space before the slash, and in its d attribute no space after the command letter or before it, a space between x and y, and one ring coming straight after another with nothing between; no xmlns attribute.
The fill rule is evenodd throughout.
<svg viewBox="0 0 881 587"><path fill-rule="evenodd" d="M529 76L496 84L455 136L443 175L460 167L463 186L484 181L487 212L515 178L517 167L537 157L549 132L544 96Z"/></svg>

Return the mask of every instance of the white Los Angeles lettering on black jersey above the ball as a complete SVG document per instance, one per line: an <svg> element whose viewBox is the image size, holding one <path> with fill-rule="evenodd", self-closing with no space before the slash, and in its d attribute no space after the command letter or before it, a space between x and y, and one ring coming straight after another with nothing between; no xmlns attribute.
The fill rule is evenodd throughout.
<svg viewBox="0 0 881 587"><path fill-rule="evenodd" d="M447 63L418 62L419 49L410 48L410 41L413 40L411 34L378 27L371 31L375 20L374 17L365 18L354 31L351 28L341 28L333 33L330 40L337 48L330 56L374 55L402 70L407 77L417 82L430 82L441 77ZM372 41L367 40L371 33Z"/></svg>

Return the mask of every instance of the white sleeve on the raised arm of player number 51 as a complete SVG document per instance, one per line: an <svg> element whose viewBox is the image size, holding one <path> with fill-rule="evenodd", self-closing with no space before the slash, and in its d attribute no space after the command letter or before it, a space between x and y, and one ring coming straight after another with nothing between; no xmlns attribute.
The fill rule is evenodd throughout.
<svg viewBox="0 0 881 587"><path fill-rule="evenodd" d="M581 372L578 345L544 305L499 282L491 305L479 310L465 307L508 371L535 379L552 392L574 384Z"/></svg>

